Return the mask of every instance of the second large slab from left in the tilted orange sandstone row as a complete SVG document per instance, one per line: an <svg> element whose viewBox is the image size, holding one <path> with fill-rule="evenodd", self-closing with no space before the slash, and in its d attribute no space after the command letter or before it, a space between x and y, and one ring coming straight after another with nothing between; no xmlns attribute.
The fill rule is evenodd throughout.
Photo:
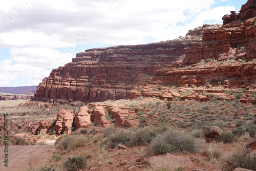
<svg viewBox="0 0 256 171"><path fill-rule="evenodd" d="M91 125L91 113L89 113L88 106L79 108L78 113L75 115L74 125L79 129L80 127L88 127Z"/></svg>

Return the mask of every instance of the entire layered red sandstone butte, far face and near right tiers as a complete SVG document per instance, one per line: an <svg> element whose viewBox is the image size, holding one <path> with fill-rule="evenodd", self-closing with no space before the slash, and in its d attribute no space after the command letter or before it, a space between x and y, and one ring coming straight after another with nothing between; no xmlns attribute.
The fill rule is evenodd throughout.
<svg viewBox="0 0 256 171"><path fill-rule="evenodd" d="M256 58L256 0L249 0L239 12L225 15L223 25L204 25L179 39L77 53L72 62L52 70L40 83L35 100L118 100L138 96L140 93L134 90L148 84L199 86L206 80L229 80L239 88L254 83L255 62L185 68L202 60Z"/></svg>

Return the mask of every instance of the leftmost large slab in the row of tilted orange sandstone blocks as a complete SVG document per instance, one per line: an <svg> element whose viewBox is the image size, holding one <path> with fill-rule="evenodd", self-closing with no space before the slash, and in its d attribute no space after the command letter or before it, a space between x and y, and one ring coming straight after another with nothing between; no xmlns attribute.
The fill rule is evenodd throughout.
<svg viewBox="0 0 256 171"><path fill-rule="evenodd" d="M57 121L54 126L54 131L57 135L62 134L63 132L71 134L71 127L75 115L69 110L59 110L57 115Z"/></svg>

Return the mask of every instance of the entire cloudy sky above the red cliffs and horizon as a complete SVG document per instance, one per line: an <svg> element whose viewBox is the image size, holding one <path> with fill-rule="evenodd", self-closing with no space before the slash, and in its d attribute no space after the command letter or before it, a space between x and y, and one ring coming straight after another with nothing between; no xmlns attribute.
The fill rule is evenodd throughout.
<svg viewBox="0 0 256 171"><path fill-rule="evenodd" d="M34 86L78 52L175 39L247 0L0 2L0 87Z"/></svg>

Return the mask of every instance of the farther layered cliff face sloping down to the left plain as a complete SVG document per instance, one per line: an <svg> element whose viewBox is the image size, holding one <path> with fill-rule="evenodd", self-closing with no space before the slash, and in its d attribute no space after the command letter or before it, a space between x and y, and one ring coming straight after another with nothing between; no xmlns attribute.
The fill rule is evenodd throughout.
<svg viewBox="0 0 256 171"><path fill-rule="evenodd" d="M200 40L200 36L191 36L78 53L72 62L52 70L37 88L35 99L73 98L94 102L127 98L127 92L144 86L154 71L179 66L187 48L198 45Z"/></svg>

